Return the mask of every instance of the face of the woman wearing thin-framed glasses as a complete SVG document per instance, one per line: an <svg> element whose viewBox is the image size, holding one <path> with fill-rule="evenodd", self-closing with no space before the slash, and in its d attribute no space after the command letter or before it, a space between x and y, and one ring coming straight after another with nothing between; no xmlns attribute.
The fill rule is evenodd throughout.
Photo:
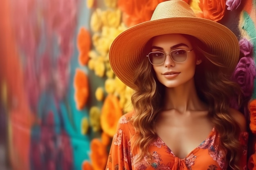
<svg viewBox="0 0 256 170"><path fill-rule="evenodd" d="M151 52L161 51L168 53L175 49L190 51L193 47L191 42L181 34L158 35L152 40ZM177 55L179 54L180 52L178 51ZM177 59L175 58L175 60ZM196 60L193 50L187 53L186 61L180 63L174 62L170 53L168 53L165 61L160 65L153 65L153 69L160 83L168 88L174 88L193 81L195 66L200 62L201 60Z"/></svg>

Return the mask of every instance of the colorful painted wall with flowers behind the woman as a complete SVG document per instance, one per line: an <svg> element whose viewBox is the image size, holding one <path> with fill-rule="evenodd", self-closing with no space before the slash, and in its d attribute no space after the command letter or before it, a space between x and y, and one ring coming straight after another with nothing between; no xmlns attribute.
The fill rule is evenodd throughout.
<svg viewBox="0 0 256 170"><path fill-rule="evenodd" d="M104 170L132 89L110 68L114 38L150 20L164 0L2 0L1 138L13 170ZM195 13L237 35L233 79L256 99L256 1L186 0ZM246 59L246 60L245 60ZM254 150L250 150L254 152Z"/></svg>

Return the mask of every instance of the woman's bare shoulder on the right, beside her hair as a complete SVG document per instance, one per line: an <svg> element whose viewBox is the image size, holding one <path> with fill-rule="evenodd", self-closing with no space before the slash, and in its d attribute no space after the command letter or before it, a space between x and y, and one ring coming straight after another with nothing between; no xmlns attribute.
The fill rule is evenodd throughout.
<svg viewBox="0 0 256 170"><path fill-rule="evenodd" d="M234 108L229 108L229 115L231 115L231 117L238 123L241 132L247 131L247 122L243 113Z"/></svg>

